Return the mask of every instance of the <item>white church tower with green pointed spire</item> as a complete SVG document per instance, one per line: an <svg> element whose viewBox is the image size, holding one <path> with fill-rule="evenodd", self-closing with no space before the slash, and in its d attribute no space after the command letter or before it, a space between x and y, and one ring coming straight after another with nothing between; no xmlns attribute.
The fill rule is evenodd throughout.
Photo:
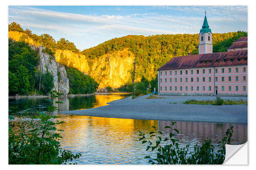
<svg viewBox="0 0 256 170"><path fill-rule="evenodd" d="M212 53L212 33L206 18L204 16L204 23L199 33L199 54Z"/></svg>

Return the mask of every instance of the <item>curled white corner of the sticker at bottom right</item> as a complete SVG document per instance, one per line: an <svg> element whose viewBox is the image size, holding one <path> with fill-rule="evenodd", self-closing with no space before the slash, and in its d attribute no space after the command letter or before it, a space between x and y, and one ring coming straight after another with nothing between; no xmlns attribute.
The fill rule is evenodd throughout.
<svg viewBox="0 0 256 170"><path fill-rule="evenodd" d="M226 144L226 156L223 164L226 165L247 165L248 145L247 142L238 145Z"/></svg>

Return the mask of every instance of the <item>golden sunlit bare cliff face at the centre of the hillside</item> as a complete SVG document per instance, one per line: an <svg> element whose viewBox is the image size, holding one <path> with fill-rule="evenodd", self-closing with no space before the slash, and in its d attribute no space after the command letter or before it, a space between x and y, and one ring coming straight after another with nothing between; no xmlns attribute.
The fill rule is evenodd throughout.
<svg viewBox="0 0 256 170"><path fill-rule="evenodd" d="M131 81L131 71L134 55L127 49L106 54L93 60L70 50L56 50L56 61L77 68L90 75L99 84L99 89L105 87L117 88Z"/></svg>

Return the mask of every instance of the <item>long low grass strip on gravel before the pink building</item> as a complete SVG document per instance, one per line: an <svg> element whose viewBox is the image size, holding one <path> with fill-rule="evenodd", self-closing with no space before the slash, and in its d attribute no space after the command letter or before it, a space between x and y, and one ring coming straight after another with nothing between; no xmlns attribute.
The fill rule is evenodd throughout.
<svg viewBox="0 0 256 170"><path fill-rule="evenodd" d="M186 102L183 102L183 104L191 104L191 105L247 105L247 101L239 100L239 101L232 101L232 100L223 100L223 99L217 99L216 101L197 101L197 100L188 100Z"/></svg>

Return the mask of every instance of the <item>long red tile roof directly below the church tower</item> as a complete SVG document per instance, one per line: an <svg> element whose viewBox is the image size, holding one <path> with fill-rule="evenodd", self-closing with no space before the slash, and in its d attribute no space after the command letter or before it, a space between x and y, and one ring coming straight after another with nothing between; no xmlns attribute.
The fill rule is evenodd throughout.
<svg viewBox="0 0 256 170"><path fill-rule="evenodd" d="M174 57L158 70L247 65L247 50Z"/></svg>

